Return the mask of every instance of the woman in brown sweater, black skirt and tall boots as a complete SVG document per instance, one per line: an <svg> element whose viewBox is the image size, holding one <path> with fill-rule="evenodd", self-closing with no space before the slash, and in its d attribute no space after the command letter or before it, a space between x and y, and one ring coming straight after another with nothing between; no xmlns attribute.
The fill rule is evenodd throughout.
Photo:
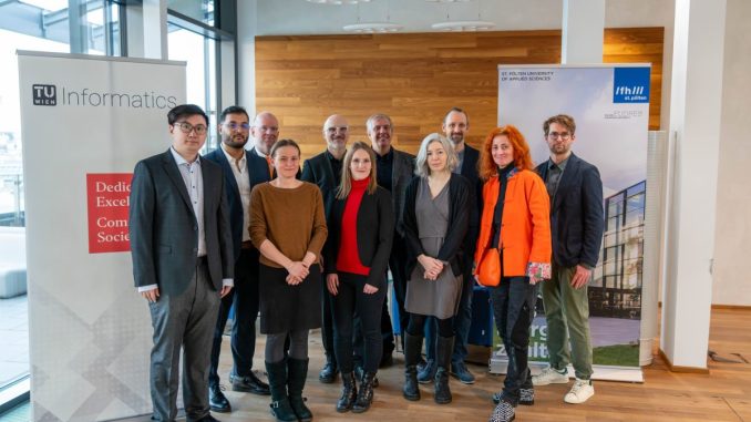
<svg viewBox="0 0 751 422"><path fill-rule="evenodd" d="M310 421L302 388L308 373L308 331L321 326L319 257L328 234L323 199L316 185L296 178L300 147L295 141L278 141L270 155L277 178L253 189L249 230L261 254L260 332L267 334L271 412L282 422Z"/></svg>

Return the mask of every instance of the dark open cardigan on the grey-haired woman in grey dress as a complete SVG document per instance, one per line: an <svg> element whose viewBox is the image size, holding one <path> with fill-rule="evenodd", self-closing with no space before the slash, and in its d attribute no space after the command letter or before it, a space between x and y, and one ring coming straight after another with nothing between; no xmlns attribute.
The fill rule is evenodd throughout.
<svg viewBox="0 0 751 422"><path fill-rule="evenodd" d="M404 238L407 239L407 275L412 274L418 265L418 256L424 254L418 230L418 218L414 206L418 198L420 176L415 176L407 187L404 199ZM465 266L464 239L470 225L470 197L472 186L463 176L452 174L449 179L449 233L443 246L434 258L451 265L454 276L461 276Z"/></svg>

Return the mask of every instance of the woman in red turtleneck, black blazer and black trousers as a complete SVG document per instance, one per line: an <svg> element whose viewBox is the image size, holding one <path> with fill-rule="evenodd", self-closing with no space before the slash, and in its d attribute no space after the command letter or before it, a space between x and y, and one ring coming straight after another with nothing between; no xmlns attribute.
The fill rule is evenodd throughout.
<svg viewBox="0 0 751 422"><path fill-rule="evenodd" d="M391 194L375 182L375 154L356 142L344 155L325 248L326 282L332 295L333 343L341 370L338 412L364 412L373 400L381 361L381 309L391 253L394 216ZM364 371L358 392L352 363L352 320L361 320Z"/></svg>

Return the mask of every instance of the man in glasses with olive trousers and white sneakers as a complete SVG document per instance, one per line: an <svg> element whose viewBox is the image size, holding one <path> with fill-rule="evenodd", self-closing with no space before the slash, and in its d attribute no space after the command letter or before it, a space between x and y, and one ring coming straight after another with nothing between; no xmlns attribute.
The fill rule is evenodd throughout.
<svg viewBox="0 0 751 422"><path fill-rule="evenodd" d="M551 366L533 377L532 383L568 383L570 360L576 381L564 401L578 404L595 394L587 284L603 241L603 182L597 167L572 152L576 141L573 117L553 116L543 131L551 150L551 159L537 166L551 196L553 278L542 286Z"/></svg>

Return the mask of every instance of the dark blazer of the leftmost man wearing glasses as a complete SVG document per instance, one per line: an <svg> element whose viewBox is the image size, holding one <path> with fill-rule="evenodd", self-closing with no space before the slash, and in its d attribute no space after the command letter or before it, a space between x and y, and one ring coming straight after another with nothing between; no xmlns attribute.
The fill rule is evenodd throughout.
<svg viewBox="0 0 751 422"><path fill-rule="evenodd" d="M208 271L216 290L233 278L233 239L222 168L200 161ZM191 197L172 152L135 166L131 184L128 231L136 287L157 285L161 294L179 295L196 269L198 225Z"/></svg>

